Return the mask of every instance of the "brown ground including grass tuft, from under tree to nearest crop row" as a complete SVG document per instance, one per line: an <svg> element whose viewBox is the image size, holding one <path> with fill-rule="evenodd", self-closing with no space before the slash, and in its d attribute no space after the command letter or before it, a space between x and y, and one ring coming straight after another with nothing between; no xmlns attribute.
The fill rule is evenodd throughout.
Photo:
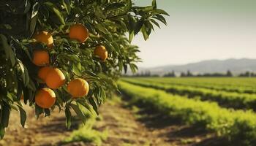
<svg viewBox="0 0 256 146"><path fill-rule="evenodd" d="M37 120L33 118L34 111L29 106L25 109L31 117L28 126L18 126L18 112L12 112L13 120L5 139L0 142L1 146L207 145L203 140L213 137L204 131L198 133L197 128L170 120L170 117L160 112L137 107L129 98L112 98L100 107L96 121L89 120L86 126L82 126L76 120L69 130L64 126L64 114L59 114L58 111L54 111L50 118Z"/></svg>

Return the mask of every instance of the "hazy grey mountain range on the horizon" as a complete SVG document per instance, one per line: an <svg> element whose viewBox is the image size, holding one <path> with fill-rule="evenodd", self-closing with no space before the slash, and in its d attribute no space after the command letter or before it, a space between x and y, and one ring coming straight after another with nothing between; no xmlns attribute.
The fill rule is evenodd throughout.
<svg viewBox="0 0 256 146"><path fill-rule="evenodd" d="M167 65L158 66L154 68L140 68L138 73L150 71L151 74L165 74L167 72L187 72L190 71L194 74L202 73L224 73L230 70L234 74L241 72L256 72L256 59L227 59L227 60L208 60L200 61L193 64L185 65Z"/></svg>

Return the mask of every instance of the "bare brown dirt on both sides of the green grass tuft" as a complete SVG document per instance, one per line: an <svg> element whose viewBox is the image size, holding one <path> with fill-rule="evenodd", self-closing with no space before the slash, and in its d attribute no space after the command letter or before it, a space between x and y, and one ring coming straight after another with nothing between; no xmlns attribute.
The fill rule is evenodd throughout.
<svg viewBox="0 0 256 146"><path fill-rule="evenodd" d="M28 112L28 127L20 127L18 113L12 113L10 126L4 140L0 141L0 145L60 145L61 139L69 136L71 131L64 126L63 113L53 112L50 118L37 120L34 118L34 110L26 107L26 111ZM124 104L107 103L100 108L99 113L103 120L97 121L95 129L99 131L108 129L108 139L103 142L103 146L214 145L211 140L203 141L209 137L208 134L195 128L182 126L175 120L172 121L163 115L148 112L148 110L138 112L140 115L138 118L138 115L135 115ZM68 145L91 144L75 142Z"/></svg>

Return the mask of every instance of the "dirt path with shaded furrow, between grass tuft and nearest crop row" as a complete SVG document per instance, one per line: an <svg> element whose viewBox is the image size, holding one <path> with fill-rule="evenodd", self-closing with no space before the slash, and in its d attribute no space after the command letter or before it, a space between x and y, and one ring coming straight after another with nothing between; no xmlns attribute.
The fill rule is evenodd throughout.
<svg viewBox="0 0 256 146"><path fill-rule="evenodd" d="M213 134L184 126L154 111L136 110L136 107L132 110L125 104L105 104L100 113L103 120L95 128L99 131L108 128L109 132L103 146L219 145L219 141L212 139Z"/></svg>

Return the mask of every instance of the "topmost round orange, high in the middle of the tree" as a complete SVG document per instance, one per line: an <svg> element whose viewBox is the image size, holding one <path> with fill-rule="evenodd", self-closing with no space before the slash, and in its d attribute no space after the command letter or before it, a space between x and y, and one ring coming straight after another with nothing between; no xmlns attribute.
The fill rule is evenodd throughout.
<svg viewBox="0 0 256 146"><path fill-rule="evenodd" d="M80 43L86 42L89 37L89 31L83 24L74 24L69 28L69 37L70 39L78 40Z"/></svg>

